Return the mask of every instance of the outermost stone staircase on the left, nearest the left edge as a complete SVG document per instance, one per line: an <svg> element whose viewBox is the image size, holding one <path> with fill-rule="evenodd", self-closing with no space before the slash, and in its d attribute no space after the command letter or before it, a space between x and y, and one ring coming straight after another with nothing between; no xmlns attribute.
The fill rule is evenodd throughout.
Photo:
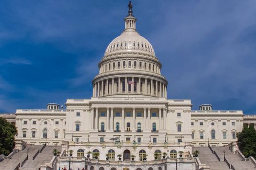
<svg viewBox="0 0 256 170"><path fill-rule="evenodd" d="M14 170L16 166L23 162L27 157L28 149L28 159L32 159L33 156L42 148L42 145L27 145L26 148L19 152L15 153L11 159L4 159L0 162L0 170Z"/></svg>

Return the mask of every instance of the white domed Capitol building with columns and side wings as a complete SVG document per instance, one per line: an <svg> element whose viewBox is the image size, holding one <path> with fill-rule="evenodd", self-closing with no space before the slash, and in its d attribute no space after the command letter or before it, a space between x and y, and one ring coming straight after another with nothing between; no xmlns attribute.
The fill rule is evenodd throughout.
<svg viewBox="0 0 256 170"><path fill-rule="evenodd" d="M162 64L136 24L130 3L123 32L98 63L90 99L67 99L66 109L17 109L17 148L59 146L56 167L73 170L172 170L177 162L179 170L197 170L193 147L236 142L243 112L211 104L192 110L191 100L168 99Z"/></svg>

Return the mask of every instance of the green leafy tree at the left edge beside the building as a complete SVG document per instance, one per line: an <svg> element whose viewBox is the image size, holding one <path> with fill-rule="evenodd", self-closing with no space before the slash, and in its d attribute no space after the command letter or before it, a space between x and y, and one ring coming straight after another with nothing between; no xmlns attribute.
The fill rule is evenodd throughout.
<svg viewBox="0 0 256 170"><path fill-rule="evenodd" d="M8 155L15 146L15 135L17 129L15 125L6 119L0 118L0 154Z"/></svg>

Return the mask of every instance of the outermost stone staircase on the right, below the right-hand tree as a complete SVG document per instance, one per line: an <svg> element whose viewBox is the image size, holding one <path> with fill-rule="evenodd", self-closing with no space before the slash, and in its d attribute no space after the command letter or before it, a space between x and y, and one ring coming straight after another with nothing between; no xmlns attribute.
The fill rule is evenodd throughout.
<svg viewBox="0 0 256 170"><path fill-rule="evenodd" d="M218 154L220 161L224 161L223 151L225 151L226 160L235 170L256 170L251 161L244 161L239 154L233 154L228 147L212 147L212 149Z"/></svg>

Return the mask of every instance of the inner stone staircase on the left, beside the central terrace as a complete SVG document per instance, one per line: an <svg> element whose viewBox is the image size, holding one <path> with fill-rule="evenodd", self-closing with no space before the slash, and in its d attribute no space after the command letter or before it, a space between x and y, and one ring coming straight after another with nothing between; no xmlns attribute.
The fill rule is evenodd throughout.
<svg viewBox="0 0 256 170"><path fill-rule="evenodd" d="M20 167L20 170L38 170L40 165L45 163L49 163L53 158L53 149L57 149L61 151L61 146L46 146L41 153L37 155L37 157L32 160L27 160L23 167Z"/></svg>

